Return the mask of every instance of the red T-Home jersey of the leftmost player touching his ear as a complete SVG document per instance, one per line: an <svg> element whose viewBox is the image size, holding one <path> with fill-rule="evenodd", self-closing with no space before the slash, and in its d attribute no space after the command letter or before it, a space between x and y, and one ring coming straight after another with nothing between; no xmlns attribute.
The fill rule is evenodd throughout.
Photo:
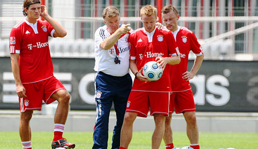
<svg viewBox="0 0 258 149"><path fill-rule="evenodd" d="M24 20L10 34L10 53L19 53L22 83L38 82L53 76L48 36L54 28L47 21L31 24Z"/></svg>

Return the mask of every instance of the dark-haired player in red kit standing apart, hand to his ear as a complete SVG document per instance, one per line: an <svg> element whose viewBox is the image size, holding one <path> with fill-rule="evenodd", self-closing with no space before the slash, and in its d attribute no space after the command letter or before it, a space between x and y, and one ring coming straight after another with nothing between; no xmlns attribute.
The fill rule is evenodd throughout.
<svg viewBox="0 0 258 149"><path fill-rule="evenodd" d="M62 137L69 109L70 94L53 76L53 64L48 37L64 37L66 31L47 13L40 0L25 0L25 20L17 24L10 34L10 53L16 91L21 111L20 137L23 148L32 148L30 120L33 110L41 110L46 104L58 101L54 117L52 148L74 148ZM46 21L38 20L40 17Z"/></svg>

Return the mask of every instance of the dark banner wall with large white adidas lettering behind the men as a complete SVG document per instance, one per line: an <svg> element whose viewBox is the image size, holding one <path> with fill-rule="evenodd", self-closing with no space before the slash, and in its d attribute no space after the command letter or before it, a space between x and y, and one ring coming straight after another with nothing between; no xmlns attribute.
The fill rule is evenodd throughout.
<svg viewBox="0 0 258 149"><path fill-rule="evenodd" d="M52 60L54 75L72 96L71 109L95 110L94 59ZM0 65L0 109L19 109L10 58L0 58ZM257 61L205 60L190 82L198 111L258 112Z"/></svg>

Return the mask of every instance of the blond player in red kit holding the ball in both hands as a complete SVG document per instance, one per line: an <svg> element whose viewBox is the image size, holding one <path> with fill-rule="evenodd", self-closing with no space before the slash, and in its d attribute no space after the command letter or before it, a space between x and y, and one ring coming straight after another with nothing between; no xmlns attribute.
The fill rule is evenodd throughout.
<svg viewBox="0 0 258 149"><path fill-rule="evenodd" d="M151 5L143 7L141 20L144 28L136 30L128 38L131 45L130 69L136 77L127 100L120 149L128 148L136 117L147 117L150 108L156 126L152 136L152 148L159 148L164 134L165 116L169 114L171 92L169 70L165 66L180 62L173 34L167 29L158 30L155 26L157 9ZM149 81L142 74L143 66L149 61L157 61L164 69L162 77L157 81Z"/></svg>

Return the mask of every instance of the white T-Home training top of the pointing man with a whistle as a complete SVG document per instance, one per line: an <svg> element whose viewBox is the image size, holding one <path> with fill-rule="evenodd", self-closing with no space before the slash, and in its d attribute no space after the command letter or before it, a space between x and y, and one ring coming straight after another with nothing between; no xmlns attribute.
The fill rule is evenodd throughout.
<svg viewBox="0 0 258 149"><path fill-rule="evenodd" d="M128 46L129 34L122 35L117 42L120 64L114 63L116 56L114 46L109 50L100 48L100 43L103 42L111 34L107 31L107 26L98 28L95 32L95 67L96 72L103 72L111 76L121 77L128 73L130 62L130 47Z"/></svg>

